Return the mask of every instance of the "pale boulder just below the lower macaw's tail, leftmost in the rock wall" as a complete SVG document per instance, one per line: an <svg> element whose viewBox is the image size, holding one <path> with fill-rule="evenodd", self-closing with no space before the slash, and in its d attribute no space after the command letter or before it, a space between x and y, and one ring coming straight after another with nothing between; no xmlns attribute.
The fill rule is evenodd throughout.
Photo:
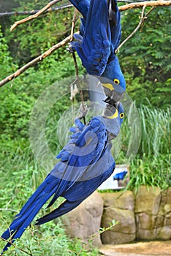
<svg viewBox="0 0 171 256"><path fill-rule="evenodd" d="M91 235L99 231L103 211L103 200L98 192L94 192L77 208L61 217L69 238L81 238L88 241ZM94 246L101 246L99 234L94 237Z"/></svg>

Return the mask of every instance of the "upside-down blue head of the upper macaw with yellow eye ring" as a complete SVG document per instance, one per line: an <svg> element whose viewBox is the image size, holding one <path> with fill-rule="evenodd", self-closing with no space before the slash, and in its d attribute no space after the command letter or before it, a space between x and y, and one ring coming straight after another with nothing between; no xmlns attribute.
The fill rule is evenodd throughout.
<svg viewBox="0 0 171 256"><path fill-rule="evenodd" d="M98 77L98 79L102 83L104 93L118 102L126 90L126 81L116 56L107 64L102 77Z"/></svg>

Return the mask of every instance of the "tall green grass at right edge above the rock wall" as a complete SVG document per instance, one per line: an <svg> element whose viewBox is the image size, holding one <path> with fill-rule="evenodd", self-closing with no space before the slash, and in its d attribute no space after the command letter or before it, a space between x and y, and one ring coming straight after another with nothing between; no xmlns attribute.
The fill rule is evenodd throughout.
<svg viewBox="0 0 171 256"><path fill-rule="evenodd" d="M142 105L139 113L141 142L136 157L128 162L131 170L129 189L138 189L140 185L166 189L171 187L170 108L161 110ZM123 151L129 140L128 129L128 124L123 124L122 137L126 138Z"/></svg>

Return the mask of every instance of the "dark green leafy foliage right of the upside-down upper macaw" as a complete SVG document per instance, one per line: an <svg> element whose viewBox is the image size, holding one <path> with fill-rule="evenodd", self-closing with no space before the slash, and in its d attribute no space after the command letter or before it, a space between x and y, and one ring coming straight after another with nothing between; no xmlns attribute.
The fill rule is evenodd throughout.
<svg viewBox="0 0 171 256"><path fill-rule="evenodd" d="M150 8L146 8L147 11ZM141 10L122 12L122 39L134 31L140 20ZM166 108L170 105L170 42L168 30L170 7L153 10L145 20L141 31L137 31L121 48L123 74L127 91L136 99L137 105L145 102Z"/></svg>

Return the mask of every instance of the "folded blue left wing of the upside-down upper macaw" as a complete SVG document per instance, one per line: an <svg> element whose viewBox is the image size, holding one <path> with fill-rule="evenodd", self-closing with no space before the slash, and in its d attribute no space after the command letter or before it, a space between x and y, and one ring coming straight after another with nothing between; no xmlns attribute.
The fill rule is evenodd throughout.
<svg viewBox="0 0 171 256"><path fill-rule="evenodd" d="M108 7L105 0L91 0L88 9L83 39L72 42L72 47L82 60L83 66L90 75L102 75L110 56L110 25Z"/></svg>

